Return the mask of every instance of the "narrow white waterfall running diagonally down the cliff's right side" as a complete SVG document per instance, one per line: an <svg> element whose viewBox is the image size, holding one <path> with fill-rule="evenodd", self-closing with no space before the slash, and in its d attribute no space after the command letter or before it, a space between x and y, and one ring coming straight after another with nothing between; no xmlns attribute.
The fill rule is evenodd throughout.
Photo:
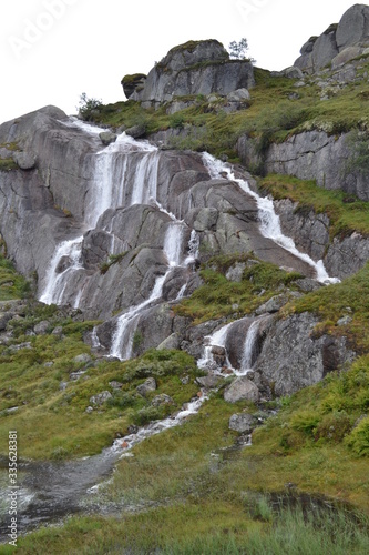
<svg viewBox="0 0 369 555"><path fill-rule="evenodd" d="M239 188L245 191L245 193L249 194L250 196L253 196L253 199L256 200L260 221L260 233L265 238L271 239L276 244L312 266L316 271L317 280L319 282L326 284L339 283L339 280L337 278L329 278L322 260L315 262L308 254L301 253L296 248L295 242L291 238L284 235L280 229L279 216L275 212L273 200L270 198L259 196L257 193L252 191L247 181L237 179L227 164L221 162L221 160L216 160L214 157L212 157L212 154L205 152L203 154L203 160L212 179L222 178L222 173L226 173L229 181L236 182Z"/></svg>

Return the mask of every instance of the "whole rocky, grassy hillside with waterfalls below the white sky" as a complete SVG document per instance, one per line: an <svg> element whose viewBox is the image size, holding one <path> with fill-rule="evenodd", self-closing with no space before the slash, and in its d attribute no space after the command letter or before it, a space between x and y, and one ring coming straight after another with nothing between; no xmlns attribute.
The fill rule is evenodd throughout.
<svg viewBox="0 0 369 555"><path fill-rule="evenodd" d="M20 553L367 553L369 7L122 85L0 125L0 552L16 431Z"/></svg>

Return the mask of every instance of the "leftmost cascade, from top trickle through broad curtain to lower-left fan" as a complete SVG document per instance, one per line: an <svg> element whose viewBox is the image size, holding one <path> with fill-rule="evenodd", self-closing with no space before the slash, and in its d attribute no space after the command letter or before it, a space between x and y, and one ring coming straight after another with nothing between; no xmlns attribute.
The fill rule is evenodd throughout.
<svg viewBox="0 0 369 555"><path fill-rule="evenodd" d="M103 129L71 119L61 122L66 127L80 128L88 134L96 137ZM140 158L137 158L140 157ZM156 200L158 169L158 150L147 141L137 142L125 133L116 141L98 152L94 157L94 179L85 200L85 224L94 229L99 218L110 208L130 206L136 203L148 203ZM83 236L63 241L51 260L44 278L44 285L39 300L45 304L62 304L71 297L68 282L72 272L83 271L80 254ZM112 235L112 252L114 235ZM63 258L71 260L70 266L58 273L58 266ZM68 293L68 294L66 294ZM73 306L78 307L82 291L75 294Z"/></svg>

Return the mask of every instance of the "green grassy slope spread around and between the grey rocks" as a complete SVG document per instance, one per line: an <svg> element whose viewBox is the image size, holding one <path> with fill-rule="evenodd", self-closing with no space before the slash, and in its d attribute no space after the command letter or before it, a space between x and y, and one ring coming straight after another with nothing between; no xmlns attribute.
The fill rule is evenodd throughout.
<svg viewBox="0 0 369 555"><path fill-rule="evenodd" d="M358 124L367 105L363 94L369 90L367 83L360 83L362 94L350 85L329 101L320 102L315 85L299 90L300 98L290 101L288 94L296 92L291 81L271 79L263 70L258 70L257 81L252 105L235 114L208 112L205 100L198 98L196 107L173 117L164 110L144 111L133 102L121 102L104 107L99 119L115 127L143 122L150 132L191 123L203 137L192 138L180 147L206 148L235 159L235 140L245 131L259 137L266 133L268 140L271 132L275 139L283 140L304 125L349 130ZM365 203L348 204L338 193L293 179L269 176L263 186L276 196L291 198L317 212L327 211L331 218L331 236L347 230L368 232ZM279 285L290 284L294 278L262 265L257 271L262 275L256 272L252 276L246 271L240 284L229 284L224 278L227 264L229 260L221 259L207 264L202 271L204 287L178 310L198 322L235 317L235 309L230 311L229 305L238 304L236 316L239 316L265 302ZM305 295L285 309L286 315L305 310L318 313L322 323L316 333L348 335L360 353L352 369L342 374L332 373L321 384L264 406L264 410L277 407L277 415L253 434L252 447L234 457L218 451L232 446L236 438L237 434L228 430L230 414L243 410L258 414L259 408L243 403L228 405L221 393L214 395L184 426L136 446L134 457L117 465L113 482L100 493L102 503L112 502L119 508L132 503L146 509L119 519L72 518L62 528L44 528L21 539L19 552L121 553L130 547L133 553L146 553L157 546L168 553L247 549L247 553L275 554L286 553L283 537L288 537L289 553L367 553L368 535L363 532L360 536L363 529L360 526L356 525L352 531L349 522L332 518L335 524L325 519L314 527L301 521L300 513L294 518L289 513L279 517L270 512L270 504L260 494L286 492L289 484L288 491L291 487L297 493L325 494L369 513L368 273L366 268L342 284ZM262 289L266 292L259 299ZM21 290L22 286L16 296ZM347 315L348 307L352 321L338 326L338 319ZM27 325L31 326L38 319L31 319L32 322L19 330L16 342L29 341L24 335ZM66 380L72 370L78 370L74 356L86 352L81 333L89 326L61 324L65 337L58 340L48 334L32 339L31 357L25 350L11 354L0 347L3 384L0 435L6 437L9 427L18 426L23 436L21 456L59 458L95 453L110 444L116 432L124 433L130 423L144 423L153 414L150 403L136 397L135 386L147 375L157 377L157 393L173 396L172 410L197 391L193 380L187 386L180 381L184 374L196 375L189 357L183 353L151 352L127 363L92 364L86 369L88 380L71 383L61 392L60 382ZM44 366L50 361L54 364ZM111 380L124 382L123 393L115 394L99 414L85 414L90 396L109 390ZM21 408L8 414L6 408L14 404ZM42 428L38 427L40 417ZM78 423L72 433L71 423ZM1 451L6 452L4 444ZM346 539L340 531L345 531ZM356 533L360 537L356 537ZM305 546L301 545L304 538ZM330 544L325 546L325 542Z"/></svg>

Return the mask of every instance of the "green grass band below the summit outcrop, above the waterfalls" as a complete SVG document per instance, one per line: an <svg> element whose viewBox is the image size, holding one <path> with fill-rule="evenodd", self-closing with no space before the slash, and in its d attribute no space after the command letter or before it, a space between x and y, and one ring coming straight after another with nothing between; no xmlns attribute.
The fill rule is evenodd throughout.
<svg viewBox="0 0 369 555"><path fill-rule="evenodd" d="M366 60L362 71L368 68L369 61ZM270 142L284 141L305 130L339 134L368 127L362 115L367 111L369 95L369 84L365 80L350 83L321 101L321 90L312 82L297 90L294 80L271 77L269 71L259 68L255 68L255 79L252 101L235 113L227 114L222 110L222 99L209 104L205 97L197 95L182 98L191 100L193 105L175 117L166 114L165 105L156 111L145 110L130 100L100 107L94 120L113 128L144 124L147 135L186 124L189 135L174 139L173 148L206 150L217 157L227 154L234 161L237 160L237 139L243 134L254 138L263 154ZM298 98L295 98L296 93Z"/></svg>

